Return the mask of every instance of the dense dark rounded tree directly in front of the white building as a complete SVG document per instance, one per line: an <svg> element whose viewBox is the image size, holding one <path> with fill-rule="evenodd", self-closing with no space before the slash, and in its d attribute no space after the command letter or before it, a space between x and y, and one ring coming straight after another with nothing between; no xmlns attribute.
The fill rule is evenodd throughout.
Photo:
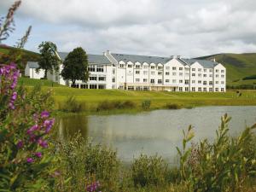
<svg viewBox="0 0 256 192"><path fill-rule="evenodd" d="M83 48L79 47L73 49L73 51L67 55L63 62L61 76L65 80L71 80L73 86L76 80L88 80L88 60Z"/></svg>

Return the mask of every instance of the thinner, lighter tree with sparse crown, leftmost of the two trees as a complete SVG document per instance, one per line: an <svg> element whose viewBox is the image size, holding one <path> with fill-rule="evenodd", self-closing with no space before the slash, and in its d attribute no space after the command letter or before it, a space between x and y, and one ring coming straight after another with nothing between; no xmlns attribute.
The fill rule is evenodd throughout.
<svg viewBox="0 0 256 192"><path fill-rule="evenodd" d="M44 79L47 79L47 72L53 73L53 71L59 71L60 60L56 55L57 46L52 42L42 42L39 44L38 49L41 56L38 61L38 69L44 69Z"/></svg>

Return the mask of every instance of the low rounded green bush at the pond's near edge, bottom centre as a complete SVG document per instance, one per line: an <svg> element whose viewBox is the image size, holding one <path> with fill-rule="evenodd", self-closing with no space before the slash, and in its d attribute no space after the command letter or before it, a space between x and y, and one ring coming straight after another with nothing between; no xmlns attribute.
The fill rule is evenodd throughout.
<svg viewBox="0 0 256 192"><path fill-rule="evenodd" d="M131 165L131 177L136 187L158 186L165 183L166 170L167 164L160 156L141 154Z"/></svg>

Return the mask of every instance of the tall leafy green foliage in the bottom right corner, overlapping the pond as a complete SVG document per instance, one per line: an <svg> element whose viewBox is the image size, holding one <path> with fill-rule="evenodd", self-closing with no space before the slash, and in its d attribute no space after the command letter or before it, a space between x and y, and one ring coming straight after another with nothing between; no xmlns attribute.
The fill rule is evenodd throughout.
<svg viewBox="0 0 256 192"><path fill-rule="evenodd" d="M180 172L188 191L242 191L245 182L255 175L256 160L253 146L253 129L247 127L239 137L228 136L227 114L221 119L216 131L217 138L211 144L201 141L197 148L187 148L194 137L191 126L183 138L180 156ZM248 150L253 148L253 150Z"/></svg>

